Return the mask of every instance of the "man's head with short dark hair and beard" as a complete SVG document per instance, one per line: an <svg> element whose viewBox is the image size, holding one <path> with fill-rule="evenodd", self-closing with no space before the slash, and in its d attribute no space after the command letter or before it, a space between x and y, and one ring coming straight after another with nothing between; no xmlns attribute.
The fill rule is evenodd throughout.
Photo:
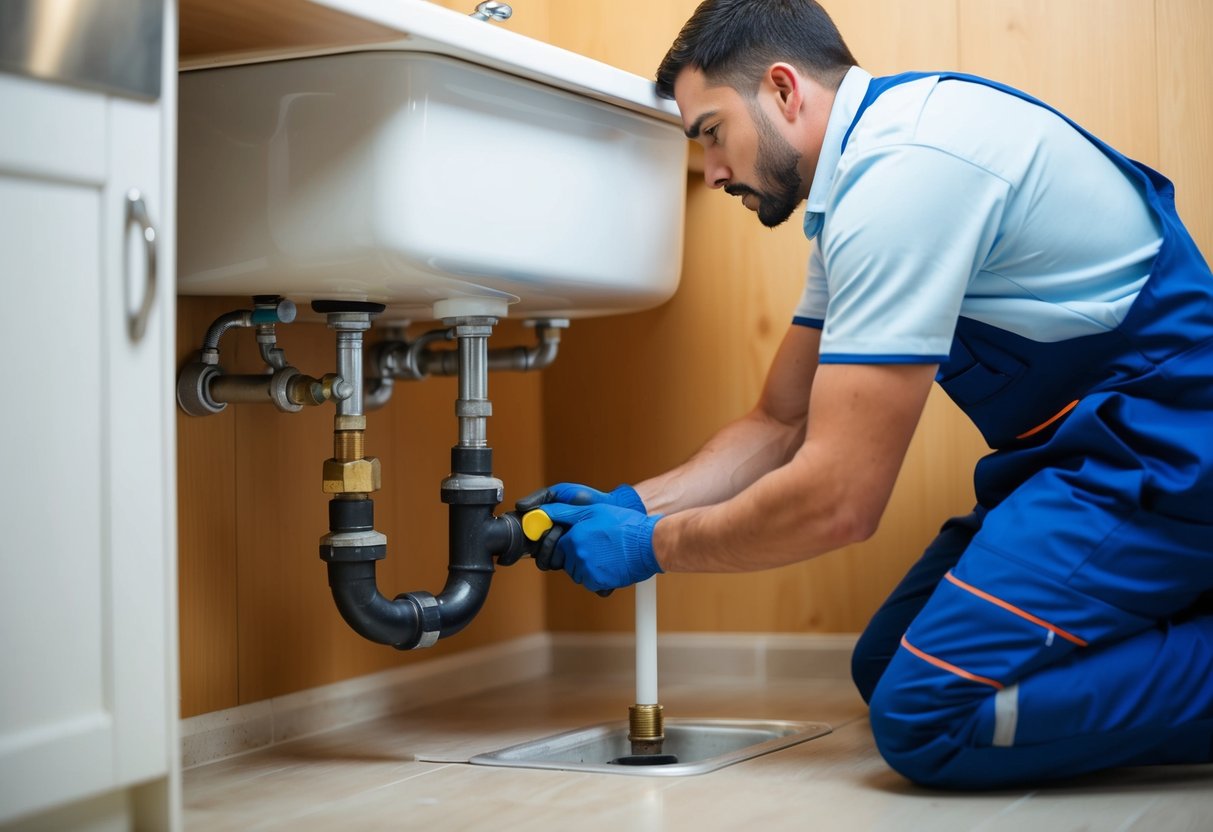
<svg viewBox="0 0 1213 832"><path fill-rule="evenodd" d="M657 93L704 144L707 184L778 226L808 194L854 63L814 0L705 0L661 62Z"/></svg>

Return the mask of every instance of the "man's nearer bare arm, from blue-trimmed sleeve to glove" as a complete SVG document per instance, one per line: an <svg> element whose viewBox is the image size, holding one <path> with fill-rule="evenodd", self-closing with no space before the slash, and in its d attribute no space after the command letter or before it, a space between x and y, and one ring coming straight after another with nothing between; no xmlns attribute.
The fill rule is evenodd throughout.
<svg viewBox="0 0 1213 832"><path fill-rule="evenodd" d="M792 460L716 506L657 523L666 571L780 566L876 530L930 391L935 365L825 365Z"/></svg>

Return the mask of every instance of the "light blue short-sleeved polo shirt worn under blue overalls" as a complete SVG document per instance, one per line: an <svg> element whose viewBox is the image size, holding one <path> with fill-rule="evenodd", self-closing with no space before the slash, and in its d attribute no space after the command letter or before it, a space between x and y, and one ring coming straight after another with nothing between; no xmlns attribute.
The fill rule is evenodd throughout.
<svg viewBox="0 0 1213 832"><path fill-rule="evenodd" d="M901 84L852 129L871 78L838 90L804 216L793 323L822 330L821 363L941 363L959 315L1040 342L1115 329L1161 245L1139 186L978 84Z"/></svg>

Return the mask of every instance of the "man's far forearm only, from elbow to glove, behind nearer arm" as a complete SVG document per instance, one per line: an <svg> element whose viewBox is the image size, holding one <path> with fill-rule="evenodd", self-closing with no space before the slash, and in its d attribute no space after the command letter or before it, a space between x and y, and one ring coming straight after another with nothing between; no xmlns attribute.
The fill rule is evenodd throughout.
<svg viewBox="0 0 1213 832"><path fill-rule="evenodd" d="M803 422L788 424L754 410L721 429L690 460L636 490L649 513L716 505L785 465L803 440Z"/></svg>

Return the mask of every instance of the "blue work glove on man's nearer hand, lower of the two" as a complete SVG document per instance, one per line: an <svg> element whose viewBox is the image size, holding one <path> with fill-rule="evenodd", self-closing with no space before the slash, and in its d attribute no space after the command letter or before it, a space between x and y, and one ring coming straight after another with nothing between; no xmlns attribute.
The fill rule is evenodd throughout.
<svg viewBox="0 0 1213 832"><path fill-rule="evenodd" d="M647 515L608 503L551 503L543 511L566 526L556 543L569 576L594 592L617 589L662 571L653 553L661 514Z"/></svg>

